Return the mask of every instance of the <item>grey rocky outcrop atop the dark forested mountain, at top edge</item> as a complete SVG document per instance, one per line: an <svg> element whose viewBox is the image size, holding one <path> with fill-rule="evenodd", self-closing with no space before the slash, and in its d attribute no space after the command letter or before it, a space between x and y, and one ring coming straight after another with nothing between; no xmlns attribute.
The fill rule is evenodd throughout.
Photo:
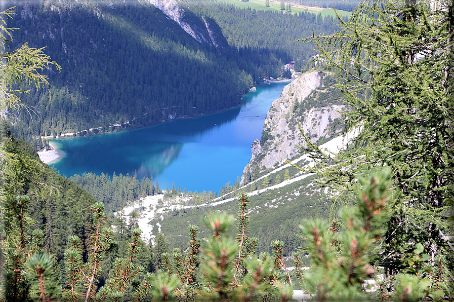
<svg viewBox="0 0 454 302"><path fill-rule="evenodd" d="M207 17L199 18L176 0L148 0L169 18L177 22L184 31L202 44L223 49L228 46L219 25Z"/></svg>

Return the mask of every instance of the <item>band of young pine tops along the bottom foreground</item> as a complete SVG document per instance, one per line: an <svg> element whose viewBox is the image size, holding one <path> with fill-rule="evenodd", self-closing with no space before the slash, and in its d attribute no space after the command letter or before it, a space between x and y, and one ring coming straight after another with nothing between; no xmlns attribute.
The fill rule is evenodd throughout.
<svg viewBox="0 0 454 302"><path fill-rule="evenodd" d="M331 226L320 219L300 225L311 260L308 271L303 270L301 252L294 253L294 270L286 267L282 242L278 240L272 243L272 255L255 254L258 239L247 234L248 199L241 194L235 239L226 234L234 222L232 216L208 215L203 223L213 233L210 239L201 242L197 226L190 225L189 248L163 253L162 269L149 273L135 261L141 231L133 229L126 256L115 259L103 286L97 286L102 259L116 245L112 230L105 226L103 205L96 203L92 207L96 231L87 260L82 257L79 239L68 238L66 284L60 284L55 258L40 250L43 232L35 230L31 238L26 236L30 200L18 196L7 203L8 217L14 224L2 241L4 277L0 293L8 301L287 301L292 297L296 277L301 288L317 301L364 300L364 290L370 283L365 281L376 278L376 299L381 301L452 299L446 259L437 256L432 262L421 243L415 244L410 257L402 259L405 265L399 274L380 278L374 260L386 231L383 222L398 196L391 190L390 176L390 170L358 175L354 206L342 208Z"/></svg>

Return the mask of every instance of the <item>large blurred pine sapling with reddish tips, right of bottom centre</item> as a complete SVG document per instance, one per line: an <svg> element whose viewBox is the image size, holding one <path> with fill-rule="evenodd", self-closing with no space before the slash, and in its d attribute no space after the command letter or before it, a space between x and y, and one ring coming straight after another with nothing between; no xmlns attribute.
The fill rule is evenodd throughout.
<svg viewBox="0 0 454 302"><path fill-rule="evenodd" d="M369 262L384 233L381 225L387 219L386 205L392 192L390 176L390 170L368 177L358 175L355 207L342 208L340 220L331 226L321 220L300 226L309 239L312 262L310 271L302 274L304 285L309 292L316 292L318 301L359 298L364 280L375 275Z"/></svg>

